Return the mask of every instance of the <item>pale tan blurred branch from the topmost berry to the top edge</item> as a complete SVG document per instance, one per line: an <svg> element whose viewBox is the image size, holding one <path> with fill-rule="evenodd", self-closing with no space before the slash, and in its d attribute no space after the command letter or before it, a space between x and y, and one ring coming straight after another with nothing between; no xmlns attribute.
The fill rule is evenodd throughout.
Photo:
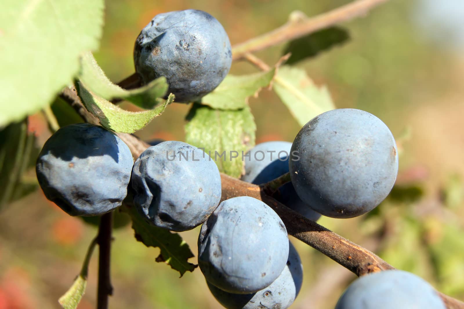
<svg viewBox="0 0 464 309"><path fill-rule="evenodd" d="M238 45L234 45L232 47L232 59L242 59L249 52L257 52L273 45L298 39L329 26L363 16L375 6L387 1L388 0L357 0L312 18L306 17L301 12L292 13L289 21L283 26Z"/></svg>

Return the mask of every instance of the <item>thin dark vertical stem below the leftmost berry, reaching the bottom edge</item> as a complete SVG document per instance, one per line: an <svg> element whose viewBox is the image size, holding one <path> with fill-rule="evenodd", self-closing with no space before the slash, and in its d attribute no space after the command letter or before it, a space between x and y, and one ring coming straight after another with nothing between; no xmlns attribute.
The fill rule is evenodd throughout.
<svg viewBox="0 0 464 309"><path fill-rule="evenodd" d="M110 279L111 232L113 212L105 213L98 226L97 241L100 247L98 256L97 309L108 309L108 296L113 294Z"/></svg>

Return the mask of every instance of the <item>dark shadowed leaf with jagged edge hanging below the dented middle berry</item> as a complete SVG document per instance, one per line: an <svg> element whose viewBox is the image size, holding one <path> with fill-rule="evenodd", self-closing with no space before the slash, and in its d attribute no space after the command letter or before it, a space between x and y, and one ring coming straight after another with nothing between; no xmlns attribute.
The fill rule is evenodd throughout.
<svg viewBox="0 0 464 309"><path fill-rule="evenodd" d="M186 271L193 271L198 265L188 262L194 255L188 244L178 233L148 224L137 212L135 206L125 205L123 211L132 218L132 228L135 238L147 247L159 247L160 255L156 262L166 262L172 269L179 271L180 277Z"/></svg>

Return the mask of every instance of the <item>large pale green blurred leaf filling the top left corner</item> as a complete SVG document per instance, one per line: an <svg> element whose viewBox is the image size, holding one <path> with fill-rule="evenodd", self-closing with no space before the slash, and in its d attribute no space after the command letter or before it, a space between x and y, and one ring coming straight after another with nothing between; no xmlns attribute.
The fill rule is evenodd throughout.
<svg viewBox="0 0 464 309"><path fill-rule="evenodd" d="M0 127L51 103L96 50L103 0L6 0L0 10Z"/></svg>

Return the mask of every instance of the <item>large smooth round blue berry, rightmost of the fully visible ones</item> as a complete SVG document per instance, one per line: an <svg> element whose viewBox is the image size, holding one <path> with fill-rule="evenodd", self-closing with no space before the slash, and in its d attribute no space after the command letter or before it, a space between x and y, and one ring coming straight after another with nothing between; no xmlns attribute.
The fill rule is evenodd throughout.
<svg viewBox="0 0 464 309"><path fill-rule="evenodd" d="M398 174L392 133L359 109L316 116L296 135L291 152L296 193L313 210L333 218L372 210L390 193Z"/></svg>

